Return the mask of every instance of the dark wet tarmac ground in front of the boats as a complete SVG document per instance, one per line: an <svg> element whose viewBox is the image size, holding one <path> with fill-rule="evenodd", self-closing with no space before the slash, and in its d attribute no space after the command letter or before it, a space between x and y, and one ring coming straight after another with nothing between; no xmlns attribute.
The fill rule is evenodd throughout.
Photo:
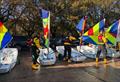
<svg viewBox="0 0 120 82"><path fill-rule="evenodd" d="M82 63L58 61L53 66L41 66L39 70L31 69L31 56L24 52L19 54L20 64L6 74L0 74L0 82L119 82L120 61L109 60L107 65L101 61L99 67L92 59Z"/></svg>

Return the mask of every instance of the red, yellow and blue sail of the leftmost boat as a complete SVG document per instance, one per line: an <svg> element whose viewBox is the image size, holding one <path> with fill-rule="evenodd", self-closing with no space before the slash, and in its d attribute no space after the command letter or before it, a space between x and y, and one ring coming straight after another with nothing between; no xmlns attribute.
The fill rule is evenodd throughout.
<svg viewBox="0 0 120 82"><path fill-rule="evenodd" d="M8 32L8 29L0 22L0 49L6 47L11 40L12 36Z"/></svg>

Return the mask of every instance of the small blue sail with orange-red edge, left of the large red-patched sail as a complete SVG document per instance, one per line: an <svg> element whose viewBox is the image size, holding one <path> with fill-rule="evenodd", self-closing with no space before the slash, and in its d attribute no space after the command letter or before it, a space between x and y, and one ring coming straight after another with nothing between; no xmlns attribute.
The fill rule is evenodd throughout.
<svg viewBox="0 0 120 82"><path fill-rule="evenodd" d="M86 17L86 16L85 16ZM79 32L83 32L84 29L85 29L85 26L86 26L86 18L83 17L79 23L77 24L76 26L76 29L79 31Z"/></svg>

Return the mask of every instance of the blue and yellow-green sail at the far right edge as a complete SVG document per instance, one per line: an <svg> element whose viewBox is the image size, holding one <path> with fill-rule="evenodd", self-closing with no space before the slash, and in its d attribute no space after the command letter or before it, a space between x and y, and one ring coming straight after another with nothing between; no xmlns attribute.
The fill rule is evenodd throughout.
<svg viewBox="0 0 120 82"><path fill-rule="evenodd" d="M113 23L105 32L105 37L108 40L108 44L116 44L117 36L119 36L120 20Z"/></svg>

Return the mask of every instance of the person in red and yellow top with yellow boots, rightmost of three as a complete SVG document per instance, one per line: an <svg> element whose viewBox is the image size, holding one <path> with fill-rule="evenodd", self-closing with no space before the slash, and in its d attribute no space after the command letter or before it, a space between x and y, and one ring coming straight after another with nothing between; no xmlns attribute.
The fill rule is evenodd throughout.
<svg viewBox="0 0 120 82"><path fill-rule="evenodd" d="M105 38L103 31L100 31L100 34L98 35L98 42L99 42L99 44L98 44L98 51L97 51L97 55L96 55L96 65L98 65L99 56L100 56L101 52L103 53L103 56L104 56L104 64L106 64L107 63L107 58L106 58L107 49L106 49L106 47L108 45L107 45L107 39Z"/></svg>

